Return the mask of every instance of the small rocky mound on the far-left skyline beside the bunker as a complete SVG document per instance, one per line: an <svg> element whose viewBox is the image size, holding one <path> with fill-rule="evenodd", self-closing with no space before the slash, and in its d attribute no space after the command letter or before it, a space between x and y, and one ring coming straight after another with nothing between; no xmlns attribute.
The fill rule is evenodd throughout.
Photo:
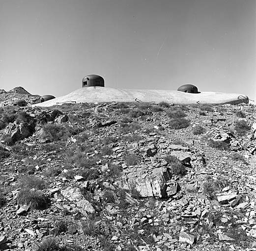
<svg viewBox="0 0 256 251"><path fill-rule="evenodd" d="M15 87L10 91L0 89L0 107L12 105L15 100L26 100L28 104L34 103L35 100L40 98L39 95L31 95L23 87Z"/></svg>

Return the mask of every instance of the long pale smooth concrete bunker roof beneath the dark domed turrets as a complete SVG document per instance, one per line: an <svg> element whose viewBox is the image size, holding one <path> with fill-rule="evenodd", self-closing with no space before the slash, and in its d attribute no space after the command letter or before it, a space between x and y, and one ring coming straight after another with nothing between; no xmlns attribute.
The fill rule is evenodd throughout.
<svg viewBox="0 0 256 251"><path fill-rule="evenodd" d="M193 104L198 102L212 104L237 104L248 102L248 97L246 95L236 93L201 92L193 94L171 90L115 89L109 87L91 86L77 89L70 94L35 104L35 106L47 107L70 101L76 101L77 103L113 101L134 102L135 99L139 99L143 102L154 101L156 103L160 103L164 101L175 104Z"/></svg>

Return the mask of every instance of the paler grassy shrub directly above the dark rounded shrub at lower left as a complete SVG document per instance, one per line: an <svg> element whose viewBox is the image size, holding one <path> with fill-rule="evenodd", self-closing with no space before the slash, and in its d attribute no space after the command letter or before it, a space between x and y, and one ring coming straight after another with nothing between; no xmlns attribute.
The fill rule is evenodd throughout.
<svg viewBox="0 0 256 251"><path fill-rule="evenodd" d="M18 185L22 189L44 189L46 187L45 180L32 175L24 175L20 177Z"/></svg>

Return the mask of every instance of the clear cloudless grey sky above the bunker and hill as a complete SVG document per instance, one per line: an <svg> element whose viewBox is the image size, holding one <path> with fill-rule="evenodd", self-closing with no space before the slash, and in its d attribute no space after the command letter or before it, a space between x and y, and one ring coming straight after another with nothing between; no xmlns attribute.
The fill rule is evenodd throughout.
<svg viewBox="0 0 256 251"><path fill-rule="evenodd" d="M255 0L0 0L0 89L105 86L256 99Z"/></svg>

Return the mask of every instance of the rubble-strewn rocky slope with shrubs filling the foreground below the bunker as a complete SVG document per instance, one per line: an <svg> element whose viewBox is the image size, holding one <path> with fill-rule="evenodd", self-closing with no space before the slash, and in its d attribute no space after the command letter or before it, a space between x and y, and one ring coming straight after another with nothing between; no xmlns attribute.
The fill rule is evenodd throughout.
<svg viewBox="0 0 256 251"><path fill-rule="evenodd" d="M256 247L256 107L0 112L0 250Z"/></svg>

